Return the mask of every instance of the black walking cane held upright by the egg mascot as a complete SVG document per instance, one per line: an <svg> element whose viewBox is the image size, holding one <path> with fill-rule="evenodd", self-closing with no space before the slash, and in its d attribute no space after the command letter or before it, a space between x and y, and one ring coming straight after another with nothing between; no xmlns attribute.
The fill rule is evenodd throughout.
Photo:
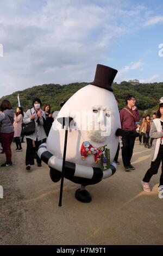
<svg viewBox="0 0 163 256"><path fill-rule="evenodd" d="M61 117L61 118L58 118L57 120L62 125L62 129L64 129L64 127L65 127L64 155L63 155L63 162L62 162L62 175L61 175L60 196L59 196L59 204L58 204L58 206L62 206L62 193L63 193L63 187L64 187L64 173L65 173L68 127L70 127L70 123L73 120L73 118L72 117Z"/></svg>

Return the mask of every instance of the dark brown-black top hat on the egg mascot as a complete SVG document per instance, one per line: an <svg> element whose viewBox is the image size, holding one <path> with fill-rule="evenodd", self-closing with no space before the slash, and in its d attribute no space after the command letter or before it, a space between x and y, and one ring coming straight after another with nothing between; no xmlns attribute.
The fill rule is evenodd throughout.
<svg viewBox="0 0 163 256"><path fill-rule="evenodd" d="M90 84L98 86L112 92L111 84L117 74L116 69L112 69L109 66L97 64L95 79Z"/></svg>

